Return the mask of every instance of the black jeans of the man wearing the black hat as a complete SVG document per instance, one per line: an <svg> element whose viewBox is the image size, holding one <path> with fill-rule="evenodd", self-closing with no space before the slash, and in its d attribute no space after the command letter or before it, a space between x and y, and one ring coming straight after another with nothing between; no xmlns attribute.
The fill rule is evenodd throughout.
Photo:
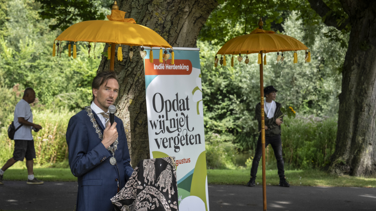
<svg viewBox="0 0 376 211"><path fill-rule="evenodd" d="M272 146L272 148L274 150L274 155L276 156L276 159L277 159L278 175L280 176L280 179L282 179L282 178L284 178L284 169L283 169L284 162L283 162L283 158L282 158L281 134L276 135L276 136L272 136L272 137L265 136L265 148L269 144ZM261 151L262 148L261 147L262 147L261 135L259 135L258 141L257 141L255 157L253 158L253 162L252 162L251 177L256 178L258 162L260 161L261 154L262 154L262 151Z"/></svg>

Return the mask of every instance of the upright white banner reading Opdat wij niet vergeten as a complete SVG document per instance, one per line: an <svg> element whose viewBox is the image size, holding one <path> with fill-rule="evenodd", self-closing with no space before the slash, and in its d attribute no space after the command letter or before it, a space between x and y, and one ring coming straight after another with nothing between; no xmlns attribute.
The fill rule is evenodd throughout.
<svg viewBox="0 0 376 211"><path fill-rule="evenodd" d="M180 211L209 211L199 49L144 59L150 157L174 156Z"/></svg>

